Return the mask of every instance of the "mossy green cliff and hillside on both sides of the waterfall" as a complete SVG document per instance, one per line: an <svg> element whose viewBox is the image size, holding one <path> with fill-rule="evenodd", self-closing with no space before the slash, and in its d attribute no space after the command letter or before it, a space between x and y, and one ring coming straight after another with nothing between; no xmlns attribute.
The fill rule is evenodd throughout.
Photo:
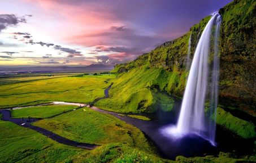
<svg viewBox="0 0 256 163"><path fill-rule="evenodd" d="M220 103L256 116L256 2L233 1L220 9ZM182 97L186 76L186 54L191 34L192 56L211 16L192 26L182 37L166 42L136 60L116 65L118 80L110 98L96 105L118 112L153 112L170 106L171 96ZM159 100L161 99L161 100ZM171 108L167 108L171 110Z"/></svg>

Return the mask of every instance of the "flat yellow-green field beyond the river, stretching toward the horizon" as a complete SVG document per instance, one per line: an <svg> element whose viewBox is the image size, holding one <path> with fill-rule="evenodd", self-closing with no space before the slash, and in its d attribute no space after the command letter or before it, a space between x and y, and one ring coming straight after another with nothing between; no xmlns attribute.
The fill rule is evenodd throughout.
<svg viewBox="0 0 256 163"><path fill-rule="evenodd" d="M84 75L0 85L0 108L28 106L51 101L92 102L104 96L114 74Z"/></svg>

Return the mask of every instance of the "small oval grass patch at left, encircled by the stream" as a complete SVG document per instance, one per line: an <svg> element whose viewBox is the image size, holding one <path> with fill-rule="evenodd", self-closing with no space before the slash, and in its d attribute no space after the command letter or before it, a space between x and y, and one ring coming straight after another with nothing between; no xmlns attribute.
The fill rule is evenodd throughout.
<svg viewBox="0 0 256 163"><path fill-rule="evenodd" d="M25 107L11 111L12 117L34 117L34 118L45 118L54 116L66 111L73 110L77 106L72 105L48 105L48 106L33 106Z"/></svg>

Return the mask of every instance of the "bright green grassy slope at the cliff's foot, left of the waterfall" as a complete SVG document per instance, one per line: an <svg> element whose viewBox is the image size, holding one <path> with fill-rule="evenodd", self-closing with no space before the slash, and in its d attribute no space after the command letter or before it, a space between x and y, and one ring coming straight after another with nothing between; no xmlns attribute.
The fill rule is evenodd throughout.
<svg viewBox="0 0 256 163"><path fill-rule="evenodd" d="M185 83L185 75L175 71L167 73L158 68L134 68L129 73L120 74L109 90L110 98L95 105L116 112L154 112L157 108L171 111L173 99L162 93L172 89L169 83L177 83L173 90L179 91Z"/></svg>

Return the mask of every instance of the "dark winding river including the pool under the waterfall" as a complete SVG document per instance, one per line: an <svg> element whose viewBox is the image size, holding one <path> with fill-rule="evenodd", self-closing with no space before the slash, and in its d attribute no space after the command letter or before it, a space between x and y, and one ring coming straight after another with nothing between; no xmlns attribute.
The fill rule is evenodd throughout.
<svg viewBox="0 0 256 163"><path fill-rule="evenodd" d="M118 119L125 121L128 124L136 126L140 129L146 137L151 141L158 149L159 154L167 159L175 159L176 156L183 155L186 157L193 157L193 156L204 156L204 155L217 155L220 151L223 152L233 152L236 155L246 155L249 153L253 153L253 141L241 139L233 135L232 133L224 130L222 127L217 126L216 130L216 142L218 145L216 147L211 146L211 144L206 141L205 139L197 136L197 135L188 135L182 139L173 139L167 137L165 134L162 133L161 129L170 124L176 123L177 112L180 109L181 101L175 100L175 105L173 107L172 112L164 112L158 110L158 112L154 114L137 114L150 117L150 121L144 121L140 119L136 119L133 117L127 116L128 114L120 115L116 112L110 112L106 110L101 110L95 106L92 106L95 102L99 101L103 98L109 98L109 89L111 85L105 89L105 97L97 98L94 100L90 105L85 103L71 103L71 102L51 102L45 103L36 106L42 105L75 105L81 107L89 107L92 110L102 112L104 114L110 114L112 116L118 117ZM31 106L28 106L31 107ZM24 107L15 107L12 109L20 109ZM88 143L79 143L75 141L71 141L70 139L61 137L58 134L50 132L49 130L33 126L31 125L32 122L40 120L40 119L16 119L12 118L10 114L11 108L7 108L4 110L0 110L0 113L3 114L2 120L11 121L15 124L23 124L22 126L25 128L30 128L36 130L37 132L46 135L47 137L57 141L59 143L67 144L70 146L86 148L92 150L97 146L95 144L88 144ZM64 113L62 113L64 114ZM57 116L57 115L55 115ZM49 117L48 117L49 118ZM25 123L24 123L25 122Z"/></svg>

